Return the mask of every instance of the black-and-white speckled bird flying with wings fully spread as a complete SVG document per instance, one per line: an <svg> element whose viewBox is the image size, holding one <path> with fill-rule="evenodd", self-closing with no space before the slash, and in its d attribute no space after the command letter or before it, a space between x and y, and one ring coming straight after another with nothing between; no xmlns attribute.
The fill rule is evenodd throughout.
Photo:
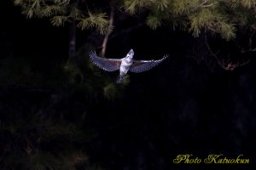
<svg viewBox="0 0 256 170"><path fill-rule="evenodd" d="M155 65L159 65L169 55L164 55L162 59L158 60L137 60L133 59L134 51L131 49L128 54L122 59L105 59L96 55L95 51L91 51L89 56L92 63L100 67L104 71L118 71L119 77L117 82L120 83L128 71L140 73L149 71Z"/></svg>

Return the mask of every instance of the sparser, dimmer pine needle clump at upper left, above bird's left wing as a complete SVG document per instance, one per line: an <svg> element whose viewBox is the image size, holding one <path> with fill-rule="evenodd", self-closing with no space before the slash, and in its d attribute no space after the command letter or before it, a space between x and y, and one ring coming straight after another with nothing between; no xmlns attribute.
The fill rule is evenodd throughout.
<svg viewBox="0 0 256 170"><path fill-rule="evenodd" d="M77 21L82 30L96 28L101 34L108 33L108 16L88 8L87 3L79 0L15 0L22 14L32 17L49 17L53 26L64 26L66 22Z"/></svg>

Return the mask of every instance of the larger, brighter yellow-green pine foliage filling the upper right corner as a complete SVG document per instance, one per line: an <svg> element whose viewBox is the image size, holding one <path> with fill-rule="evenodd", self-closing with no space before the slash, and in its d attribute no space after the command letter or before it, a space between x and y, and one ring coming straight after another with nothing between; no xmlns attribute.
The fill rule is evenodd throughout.
<svg viewBox="0 0 256 170"><path fill-rule="evenodd" d="M235 38L241 26L254 29L255 5L255 0L125 1L130 14L147 8L146 23L153 29L167 24L189 31L195 37L201 31L209 31L225 40Z"/></svg>

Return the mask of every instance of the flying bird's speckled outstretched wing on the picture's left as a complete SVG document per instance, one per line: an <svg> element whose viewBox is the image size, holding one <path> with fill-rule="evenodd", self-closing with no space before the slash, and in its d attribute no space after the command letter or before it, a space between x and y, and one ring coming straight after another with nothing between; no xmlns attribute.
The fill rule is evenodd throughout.
<svg viewBox="0 0 256 170"><path fill-rule="evenodd" d="M89 56L92 63L104 71L117 71L120 68L121 59L104 59L97 56L95 51L91 51Z"/></svg>

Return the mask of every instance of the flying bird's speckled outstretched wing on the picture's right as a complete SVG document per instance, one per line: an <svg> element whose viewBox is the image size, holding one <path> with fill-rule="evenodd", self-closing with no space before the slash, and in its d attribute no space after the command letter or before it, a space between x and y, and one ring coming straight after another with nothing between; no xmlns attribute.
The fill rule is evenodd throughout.
<svg viewBox="0 0 256 170"><path fill-rule="evenodd" d="M133 60L133 64L131 65L131 72L139 73L143 71L149 71L154 66L159 65L164 59L169 57L169 55L165 55L162 59L158 60Z"/></svg>

